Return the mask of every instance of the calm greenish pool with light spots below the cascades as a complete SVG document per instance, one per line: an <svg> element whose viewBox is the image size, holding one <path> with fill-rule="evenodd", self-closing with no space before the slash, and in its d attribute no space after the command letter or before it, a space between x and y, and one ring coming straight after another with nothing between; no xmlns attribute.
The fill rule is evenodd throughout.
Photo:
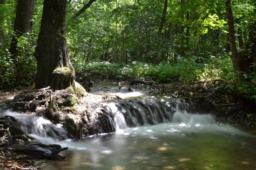
<svg viewBox="0 0 256 170"><path fill-rule="evenodd" d="M65 141L51 169L255 169L256 137L227 125L164 123Z"/></svg>

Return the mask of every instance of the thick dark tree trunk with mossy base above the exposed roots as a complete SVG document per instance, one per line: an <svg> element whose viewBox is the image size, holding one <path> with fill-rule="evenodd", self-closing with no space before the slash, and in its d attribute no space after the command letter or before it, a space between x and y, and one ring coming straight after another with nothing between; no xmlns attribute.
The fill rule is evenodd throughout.
<svg viewBox="0 0 256 170"><path fill-rule="evenodd" d="M66 47L66 0L44 0L35 58L37 89L50 86L76 92L75 69Z"/></svg>

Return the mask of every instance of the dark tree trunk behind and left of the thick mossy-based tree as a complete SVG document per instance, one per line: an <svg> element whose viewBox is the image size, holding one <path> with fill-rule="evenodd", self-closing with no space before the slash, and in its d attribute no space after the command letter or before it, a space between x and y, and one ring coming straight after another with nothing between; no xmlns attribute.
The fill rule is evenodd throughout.
<svg viewBox="0 0 256 170"><path fill-rule="evenodd" d="M10 54L11 59L14 60L16 69L16 81L19 83L20 75L19 75L19 66L17 64L17 38L22 36L24 33L28 33L31 31L32 27L32 13L33 13L33 5L34 0L18 0L15 23L14 23L14 37L11 40Z"/></svg>

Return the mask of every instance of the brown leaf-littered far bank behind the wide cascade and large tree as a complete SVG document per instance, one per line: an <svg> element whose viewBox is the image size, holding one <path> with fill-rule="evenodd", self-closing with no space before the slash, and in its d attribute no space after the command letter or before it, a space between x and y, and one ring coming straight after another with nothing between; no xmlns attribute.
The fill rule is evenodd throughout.
<svg viewBox="0 0 256 170"><path fill-rule="evenodd" d="M113 80L104 82L104 80L99 79L98 81L99 83L93 83L94 90L92 93L101 90L107 92L109 88L118 89L120 85L120 82ZM130 87L128 81L123 81L122 84L124 87ZM135 87L136 90L145 88L143 84L136 84L136 86L133 87ZM212 82L196 82L192 84L154 84L153 86L147 87L150 88L143 91L143 93L167 95L184 100L186 103L190 104L190 112L212 114L218 122L239 126L240 128L256 128L256 112L253 112L253 110L241 110L239 108L238 95L230 93L227 89L227 84L221 80ZM32 88L29 86L0 91L0 100L11 100L15 95L22 91L31 89Z"/></svg>

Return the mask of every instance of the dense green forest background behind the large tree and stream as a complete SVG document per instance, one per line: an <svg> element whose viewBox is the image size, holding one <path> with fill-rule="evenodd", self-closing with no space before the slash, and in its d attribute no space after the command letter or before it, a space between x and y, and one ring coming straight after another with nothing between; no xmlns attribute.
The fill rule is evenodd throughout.
<svg viewBox="0 0 256 170"><path fill-rule="evenodd" d="M43 1L35 1L31 30L20 35L14 31L17 1L0 3L0 88L29 86L37 70L33 53ZM253 0L69 1L69 56L80 77L218 80L225 82L222 88L255 100L255 13Z"/></svg>

